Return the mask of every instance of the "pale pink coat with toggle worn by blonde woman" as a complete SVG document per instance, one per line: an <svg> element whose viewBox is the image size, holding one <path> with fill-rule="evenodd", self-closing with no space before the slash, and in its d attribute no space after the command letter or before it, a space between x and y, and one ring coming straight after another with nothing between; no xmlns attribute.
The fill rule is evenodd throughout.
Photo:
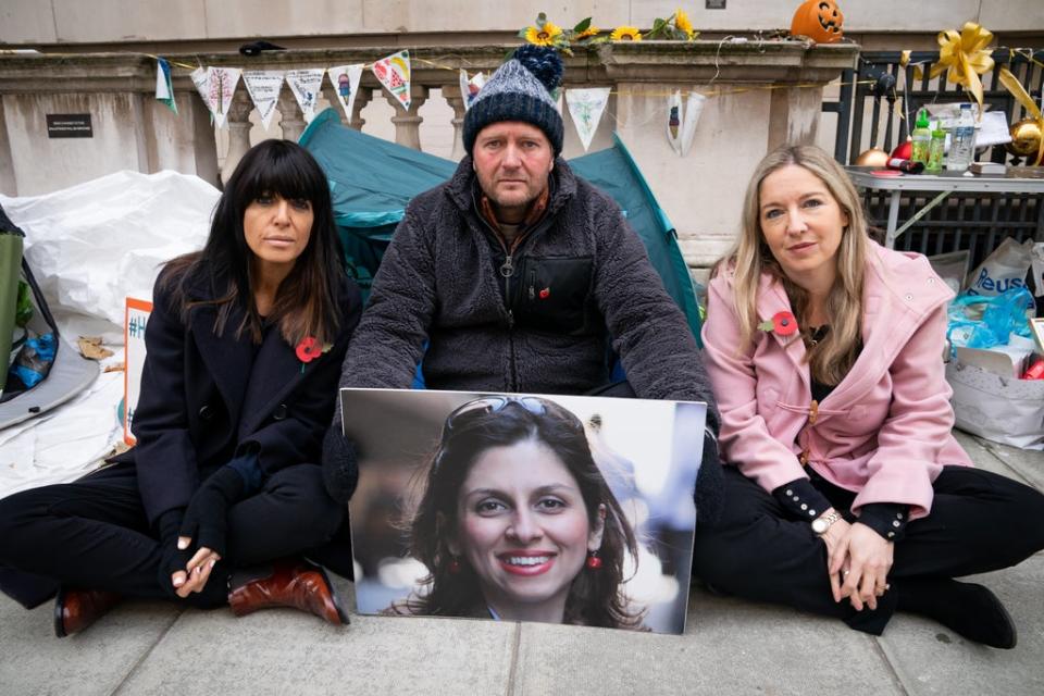
<svg viewBox="0 0 1044 696"><path fill-rule="evenodd" d="M766 490L807 476L799 457L831 483L868 502L932 507L944 464L971 465L950 434L954 411L943 348L953 293L919 254L872 244L863 287L862 352L830 396L813 408L805 344L798 334L756 332L739 348L731 270L710 282L705 362L718 408L724 461ZM791 311L768 275L758 318Z"/></svg>

